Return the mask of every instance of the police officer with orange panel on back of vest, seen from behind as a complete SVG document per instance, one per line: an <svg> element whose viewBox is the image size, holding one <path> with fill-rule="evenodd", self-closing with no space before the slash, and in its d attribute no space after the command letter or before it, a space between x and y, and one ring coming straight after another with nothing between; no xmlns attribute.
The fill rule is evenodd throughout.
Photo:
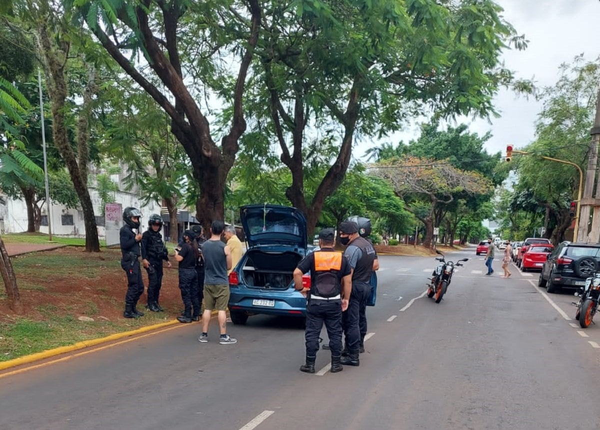
<svg viewBox="0 0 600 430"><path fill-rule="evenodd" d="M319 233L320 250L307 255L294 270L294 287L307 296L306 304L306 363L302 372L314 373L319 350L319 335L325 323L331 347L331 372L340 372L341 315L348 307L352 289L350 264L341 252L334 250L334 229L323 228ZM310 288L302 285L302 275L310 271Z"/></svg>

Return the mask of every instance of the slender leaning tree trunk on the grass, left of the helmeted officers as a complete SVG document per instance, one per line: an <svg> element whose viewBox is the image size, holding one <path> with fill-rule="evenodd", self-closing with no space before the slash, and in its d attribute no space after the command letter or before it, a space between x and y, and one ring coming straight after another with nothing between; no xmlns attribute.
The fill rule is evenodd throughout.
<svg viewBox="0 0 600 430"><path fill-rule="evenodd" d="M71 181L79 197L83 211L83 222L85 224L85 250L87 252L100 252L100 240L98 239L98 228L94 216L94 206L89 197L86 185L87 172L82 173L87 166L79 166L77 157L69 142L67 134L67 121L65 118L65 100L67 99L67 80L65 79L65 65L67 62L59 59L59 55L67 56L69 46L66 41L59 37L53 37L55 46L50 41L50 35L46 22L41 23L38 29L40 50L44 60L44 71L50 101L52 102L52 137L59 154L67 165Z"/></svg>

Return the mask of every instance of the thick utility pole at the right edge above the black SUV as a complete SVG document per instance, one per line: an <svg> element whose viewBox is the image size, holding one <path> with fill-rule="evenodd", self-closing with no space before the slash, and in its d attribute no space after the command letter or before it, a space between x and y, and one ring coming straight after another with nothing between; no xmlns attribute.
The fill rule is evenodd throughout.
<svg viewBox="0 0 600 430"><path fill-rule="evenodd" d="M592 191L595 184L596 179L596 166L598 164L598 144L600 143L600 88L598 89L598 95L596 97L596 116L594 118L594 124L592 130L590 130L590 134L592 135L592 146L590 148L590 157L587 164L587 174L586 174L586 188L589 188L589 195L585 194L583 196L583 204L586 205L586 212L581 211L581 215L579 218L580 225L580 234L578 236L578 242L592 242L596 243L600 240L600 188L596 190L595 199L592 199ZM589 184L589 186L588 186ZM587 199L586 199L587 197ZM589 222L590 217L590 208L593 206L593 218L592 218L592 230L590 231L589 236L587 235L587 223ZM583 208L582 208L583 209ZM586 215L586 216L584 216Z"/></svg>

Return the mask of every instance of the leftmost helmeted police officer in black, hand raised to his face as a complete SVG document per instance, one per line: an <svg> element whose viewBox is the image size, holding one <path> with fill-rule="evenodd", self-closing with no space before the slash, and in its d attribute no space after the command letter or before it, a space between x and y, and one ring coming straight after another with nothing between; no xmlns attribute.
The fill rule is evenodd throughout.
<svg viewBox="0 0 600 430"><path fill-rule="evenodd" d="M142 234L139 232L142 212L137 208L125 208L123 221L125 225L119 231L121 243L121 267L127 274L127 293L125 294L125 318L139 318L143 313L136 309L137 300L144 292L142 271L139 257L142 254ZM137 233L133 229L137 229Z"/></svg>

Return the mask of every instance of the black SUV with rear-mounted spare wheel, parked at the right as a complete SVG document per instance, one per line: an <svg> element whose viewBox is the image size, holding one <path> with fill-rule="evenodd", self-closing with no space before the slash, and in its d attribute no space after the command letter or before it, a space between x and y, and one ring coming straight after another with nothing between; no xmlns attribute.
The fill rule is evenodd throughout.
<svg viewBox="0 0 600 430"><path fill-rule="evenodd" d="M538 287L546 287L548 293L561 288L576 290L586 283L599 266L600 243L561 242L542 266Z"/></svg>

